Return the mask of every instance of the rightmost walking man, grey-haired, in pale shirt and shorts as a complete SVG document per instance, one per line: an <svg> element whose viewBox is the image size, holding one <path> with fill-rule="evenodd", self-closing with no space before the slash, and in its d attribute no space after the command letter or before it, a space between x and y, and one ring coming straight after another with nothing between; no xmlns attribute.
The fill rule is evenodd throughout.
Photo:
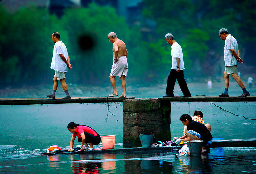
<svg viewBox="0 0 256 174"><path fill-rule="evenodd" d="M240 79L237 73L237 62L244 63L244 61L239 57L240 53L238 50L238 44L236 39L228 34L226 28L221 28L219 31L219 36L222 40L225 41L224 46L224 62L225 62L225 71L224 71L224 92L219 95L220 97L229 97L228 96L228 86L229 86L229 75L232 74L233 79L236 80L237 84L242 88L243 94L238 97L247 97L250 93L244 87L243 81Z"/></svg>

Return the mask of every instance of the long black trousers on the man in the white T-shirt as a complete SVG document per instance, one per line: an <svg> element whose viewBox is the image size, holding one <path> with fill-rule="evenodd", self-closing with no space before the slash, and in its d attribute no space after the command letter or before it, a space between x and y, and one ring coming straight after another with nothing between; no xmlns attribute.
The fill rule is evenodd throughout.
<svg viewBox="0 0 256 174"><path fill-rule="evenodd" d="M188 90L187 82L184 79L184 70L180 70L180 72L177 72L176 70L173 70L173 69L171 69L171 72L167 79L166 94L173 95L173 89L174 89L176 79L178 80L178 83L180 85L180 89L183 95L191 95Z"/></svg>

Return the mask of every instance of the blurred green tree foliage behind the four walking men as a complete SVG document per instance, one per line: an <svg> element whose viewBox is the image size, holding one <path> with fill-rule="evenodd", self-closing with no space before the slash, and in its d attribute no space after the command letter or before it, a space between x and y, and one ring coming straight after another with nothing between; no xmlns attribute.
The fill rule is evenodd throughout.
<svg viewBox="0 0 256 174"><path fill-rule="evenodd" d="M92 3L87 8L65 9L60 19L43 8L23 7L10 14L0 6L1 84L51 84L51 35L56 31L67 46L73 67L67 73L68 83L109 83L113 53L108 33L112 31L126 43L128 77L140 82L163 82L167 77L172 57L164 38L166 33L172 33L181 45L186 75L190 77L219 71L216 67L223 63L224 42L218 31L223 27L237 39L245 63L256 64L251 56L256 46L256 1L143 2L143 19L157 24L155 33L148 38L142 38L140 26L128 27L110 6ZM83 46L89 49L81 49Z"/></svg>

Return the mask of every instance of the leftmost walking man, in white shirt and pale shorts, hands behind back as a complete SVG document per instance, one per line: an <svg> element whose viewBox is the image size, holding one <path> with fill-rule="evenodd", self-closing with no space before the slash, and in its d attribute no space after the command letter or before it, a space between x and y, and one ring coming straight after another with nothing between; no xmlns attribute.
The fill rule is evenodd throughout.
<svg viewBox="0 0 256 174"><path fill-rule="evenodd" d="M66 97L64 97L63 99L71 98L68 93L68 86L65 82L65 73L68 72L68 68L72 69L68 56L68 50L65 44L60 41L60 33L55 32L52 34L52 42L55 44L53 47L51 69L55 70L55 74L53 77L52 94L46 96L52 99L55 98L55 92L58 88L58 80L60 80L61 86L66 93Z"/></svg>

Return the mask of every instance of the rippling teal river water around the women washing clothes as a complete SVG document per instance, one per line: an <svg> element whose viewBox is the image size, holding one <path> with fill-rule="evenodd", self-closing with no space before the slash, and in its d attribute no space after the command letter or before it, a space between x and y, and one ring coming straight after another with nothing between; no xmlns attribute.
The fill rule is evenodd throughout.
<svg viewBox="0 0 256 174"><path fill-rule="evenodd" d="M220 93L215 88L212 91L202 90L200 84L189 87L193 91L192 95ZM164 94L164 88L141 87L128 94L136 98L157 98ZM234 86L229 94L240 95L240 90ZM178 86L174 92L181 95ZM250 93L253 92L254 88ZM236 115L256 118L255 102L214 104ZM214 148L208 155L178 159L174 157L177 151L147 154L39 155L55 144L62 149L69 148L72 134L66 127L71 121L89 125L100 135L116 135L115 148L122 148L122 107L122 103L110 103L111 113L108 113L107 105L102 103L0 106L0 173L256 173L256 148ZM232 115L211 103L171 102L171 107L172 137L182 135L183 125L179 121L181 114L193 115L194 110L201 110L204 113L204 122L212 125L213 137L227 140L256 138L253 131L255 120ZM79 144L75 141L75 145Z"/></svg>

